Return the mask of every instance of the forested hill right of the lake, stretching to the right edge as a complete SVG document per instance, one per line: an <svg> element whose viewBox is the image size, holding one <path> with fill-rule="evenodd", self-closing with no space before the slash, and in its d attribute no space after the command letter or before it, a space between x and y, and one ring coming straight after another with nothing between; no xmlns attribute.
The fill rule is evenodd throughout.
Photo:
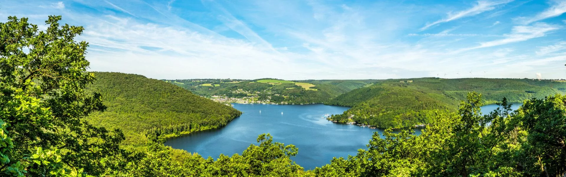
<svg viewBox="0 0 566 177"><path fill-rule="evenodd" d="M374 125L381 128L411 127L430 122L434 109L457 109L460 100L475 91L483 95L484 104L520 103L525 99L563 94L566 82L533 79L487 78L413 78L388 79L369 87L358 88L326 104L352 107L332 120L342 123Z"/></svg>

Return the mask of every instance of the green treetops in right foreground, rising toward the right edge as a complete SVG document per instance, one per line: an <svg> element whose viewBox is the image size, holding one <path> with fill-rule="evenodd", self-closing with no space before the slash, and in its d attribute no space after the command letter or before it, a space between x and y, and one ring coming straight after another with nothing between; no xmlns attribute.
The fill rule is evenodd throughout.
<svg viewBox="0 0 566 177"><path fill-rule="evenodd" d="M472 92L458 113L437 111L422 134L375 133L368 150L335 158L316 176L564 176L566 96L527 100L482 116Z"/></svg>

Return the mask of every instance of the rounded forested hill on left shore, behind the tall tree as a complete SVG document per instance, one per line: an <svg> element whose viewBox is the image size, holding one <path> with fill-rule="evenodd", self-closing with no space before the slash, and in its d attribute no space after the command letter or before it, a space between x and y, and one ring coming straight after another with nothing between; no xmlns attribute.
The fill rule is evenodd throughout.
<svg viewBox="0 0 566 177"><path fill-rule="evenodd" d="M143 75L95 72L88 91L102 94L104 112L88 116L92 124L124 131L127 142L145 142L149 130L160 134L222 127L241 112Z"/></svg>

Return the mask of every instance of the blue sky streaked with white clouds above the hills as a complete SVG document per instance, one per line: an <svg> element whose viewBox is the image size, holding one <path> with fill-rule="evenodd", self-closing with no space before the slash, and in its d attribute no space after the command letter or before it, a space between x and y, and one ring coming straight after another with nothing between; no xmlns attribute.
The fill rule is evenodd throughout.
<svg viewBox="0 0 566 177"><path fill-rule="evenodd" d="M566 0L0 0L83 26L90 71L156 79L566 78Z"/></svg>

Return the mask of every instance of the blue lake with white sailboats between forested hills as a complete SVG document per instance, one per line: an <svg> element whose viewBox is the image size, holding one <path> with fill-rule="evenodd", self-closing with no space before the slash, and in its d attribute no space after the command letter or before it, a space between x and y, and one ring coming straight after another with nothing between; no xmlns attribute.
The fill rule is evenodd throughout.
<svg viewBox="0 0 566 177"><path fill-rule="evenodd" d="M324 119L324 114L340 114L348 107L324 104L273 105L238 104L234 108L242 111L240 117L230 121L226 127L194 132L187 136L171 138L165 145L175 149L196 152L204 158L218 155L241 154L250 144L256 144L259 134L270 133L273 141L299 148L291 159L305 170L326 165L333 157L355 155L366 144L374 132L357 125L336 124ZM520 104L513 104L513 109ZM495 104L482 107L483 112L497 108ZM420 130L415 130L420 134Z"/></svg>

